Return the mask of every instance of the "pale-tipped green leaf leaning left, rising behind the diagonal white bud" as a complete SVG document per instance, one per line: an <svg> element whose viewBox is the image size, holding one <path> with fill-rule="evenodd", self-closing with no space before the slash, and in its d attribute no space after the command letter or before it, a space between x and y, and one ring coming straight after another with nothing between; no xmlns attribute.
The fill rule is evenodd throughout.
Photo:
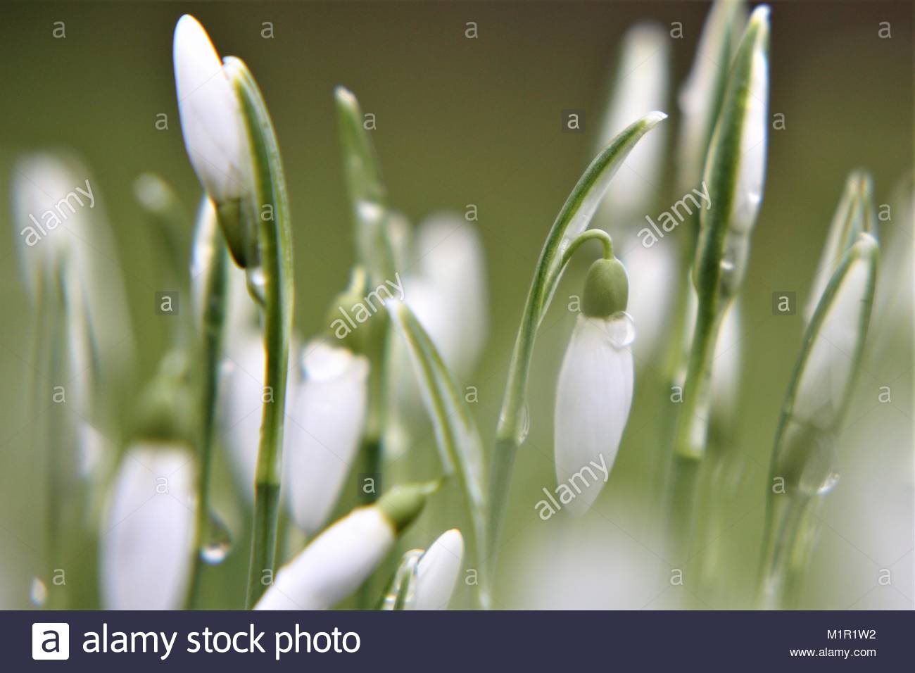
<svg viewBox="0 0 915 673"><path fill-rule="evenodd" d="M413 311L396 299L389 299L385 304L414 365L425 407L436 432L443 468L448 475L457 474L464 492L473 523L474 548L481 576L480 592L485 601L486 479L477 425L457 382Z"/></svg>

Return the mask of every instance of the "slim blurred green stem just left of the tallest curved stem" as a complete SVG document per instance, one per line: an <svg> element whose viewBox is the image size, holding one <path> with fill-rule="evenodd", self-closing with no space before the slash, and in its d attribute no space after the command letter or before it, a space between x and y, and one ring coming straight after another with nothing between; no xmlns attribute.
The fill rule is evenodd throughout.
<svg viewBox="0 0 915 673"><path fill-rule="evenodd" d="M205 211L204 211L205 212ZM206 217L206 214L203 215ZM229 253L215 220L208 226L204 245L210 258L204 265L203 299L200 316L202 331L202 381L200 388L200 464L197 476L197 511L194 520L194 561L188 590L188 607L196 608L200 601L200 581L204 568L202 551L204 537L210 526L210 475L216 420L216 396L219 387L219 365L222 351L223 326L226 313L226 290L229 278Z"/></svg>

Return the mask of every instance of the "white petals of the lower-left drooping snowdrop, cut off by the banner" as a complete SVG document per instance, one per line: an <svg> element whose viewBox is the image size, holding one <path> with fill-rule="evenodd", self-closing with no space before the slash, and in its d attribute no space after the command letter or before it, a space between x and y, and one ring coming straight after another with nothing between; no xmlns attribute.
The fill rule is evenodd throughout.
<svg viewBox="0 0 915 673"><path fill-rule="evenodd" d="M194 462L176 445L137 443L114 480L101 539L107 610L176 610L193 557Z"/></svg>

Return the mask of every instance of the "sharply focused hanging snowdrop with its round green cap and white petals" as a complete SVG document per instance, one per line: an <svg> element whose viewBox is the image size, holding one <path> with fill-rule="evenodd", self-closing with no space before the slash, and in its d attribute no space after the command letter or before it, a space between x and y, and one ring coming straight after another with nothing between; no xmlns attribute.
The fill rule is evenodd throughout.
<svg viewBox="0 0 915 673"><path fill-rule="evenodd" d="M599 259L587 273L582 313L556 386L556 479L563 506L582 514L607 481L632 403L632 325L626 269ZM573 490L574 489L574 492ZM571 497L565 499L565 494Z"/></svg>

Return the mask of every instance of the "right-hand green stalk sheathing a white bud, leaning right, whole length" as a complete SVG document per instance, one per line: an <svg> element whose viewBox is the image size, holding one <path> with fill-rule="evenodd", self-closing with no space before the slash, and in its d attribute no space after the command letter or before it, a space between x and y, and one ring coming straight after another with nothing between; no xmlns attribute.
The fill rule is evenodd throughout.
<svg viewBox="0 0 915 673"><path fill-rule="evenodd" d="M813 535L811 508L836 483L835 440L853 389L874 299L877 241L861 233L836 268L804 333L770 466L760 607L785 607Z"/></svg>

